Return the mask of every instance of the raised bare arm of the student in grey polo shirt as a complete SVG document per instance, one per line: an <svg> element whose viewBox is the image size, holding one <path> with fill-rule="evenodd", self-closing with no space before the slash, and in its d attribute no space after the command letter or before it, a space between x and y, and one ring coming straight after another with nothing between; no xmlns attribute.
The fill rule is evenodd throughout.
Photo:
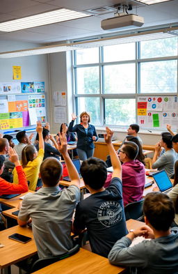
<svg viewBox="0 0 178 274"><path fill-rule="evenodd" d="M67 171L71 179L70 184L76 185L78 188L80 188L79 174L76 168L74 167L72 160L70 159L70 155L67 153L67 139L65 137L65 134L64 133L60 134L59 138L60 138L60 144L58 146L58 150L63 155L63 158L65 160Z"/></svg>

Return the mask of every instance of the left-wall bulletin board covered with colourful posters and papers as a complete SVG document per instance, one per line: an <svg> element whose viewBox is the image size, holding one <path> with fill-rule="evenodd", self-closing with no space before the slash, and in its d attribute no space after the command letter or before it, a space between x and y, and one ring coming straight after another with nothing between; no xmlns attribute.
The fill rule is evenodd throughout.
<svg viewBox="0 0 178 274"><path fill-rule="evenodd" d="M34 128L46 123L44 82L0 82L0 130Z"/></svg>

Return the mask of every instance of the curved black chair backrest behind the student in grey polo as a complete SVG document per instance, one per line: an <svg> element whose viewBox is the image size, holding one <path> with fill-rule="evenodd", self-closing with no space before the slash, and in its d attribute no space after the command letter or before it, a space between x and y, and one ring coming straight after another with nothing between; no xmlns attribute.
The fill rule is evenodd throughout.
<svg viewBox="0 0 178 274"><path fill-rule="evenodd" d="M35 271L38 271L40 268L49 266L49 264L54 264L56 261L60 261L62 259L70 257L70 256L74 255L76 252L78 252L79 249L80 249L79 245L75 245L74 248L72 248L65 254L60 254L58 256L48 257L48 258L44 258L44 259L38 259L37 261L35 261L35 263L31 267L31 271L29 273L33 273Z"/></svg>

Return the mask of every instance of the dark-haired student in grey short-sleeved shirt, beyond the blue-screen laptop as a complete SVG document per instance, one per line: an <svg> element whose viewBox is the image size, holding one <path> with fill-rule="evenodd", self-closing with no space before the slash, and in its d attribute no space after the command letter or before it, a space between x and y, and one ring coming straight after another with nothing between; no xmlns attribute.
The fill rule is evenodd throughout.
<svg viewBox="0 0 178 274"><path fill-rule="evenodd" d="M152 158L152 168L162 170L165 169L168 176L171 177L174 172L174 165L176 160L175 150L172 149L172 135L170 132L161 133L161 141L156 144L154 157ZM161 153L161 147L165 149L165 153Z"/></svg>

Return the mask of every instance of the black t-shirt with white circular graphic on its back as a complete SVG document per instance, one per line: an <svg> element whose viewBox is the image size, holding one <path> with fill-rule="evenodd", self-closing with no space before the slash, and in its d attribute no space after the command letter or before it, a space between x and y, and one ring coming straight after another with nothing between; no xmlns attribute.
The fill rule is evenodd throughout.
<svg viewBox="0 0 178 274"><path fill-rule="evenodd" d="M79 202L74 227L87 227L92 252L108 257L114 243L127 234L119 178L113 178L106 190Z"/></svg>

